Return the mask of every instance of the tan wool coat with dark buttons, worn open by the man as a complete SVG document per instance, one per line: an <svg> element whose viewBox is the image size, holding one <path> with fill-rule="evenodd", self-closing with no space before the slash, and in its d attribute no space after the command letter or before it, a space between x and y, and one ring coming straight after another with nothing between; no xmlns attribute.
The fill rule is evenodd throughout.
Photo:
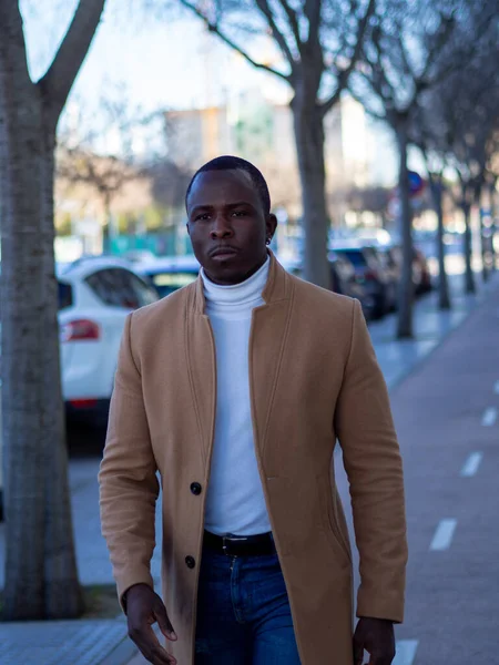
<svg viewBox="0 0 499 665"><path fill-rule="evenodd" d="M274 256L263 298L249 339L253 432L301 661L353 665L352 554L333 453L338 439L360 553L357 615L401 622L405 500L387 389L357 300L289 275ZM194 662L215 426L215 346L204 308L197 279L129 317L100 471L120 596L153 584L160 473L162 592L179 635L167 648L180 665Z"/></svg>

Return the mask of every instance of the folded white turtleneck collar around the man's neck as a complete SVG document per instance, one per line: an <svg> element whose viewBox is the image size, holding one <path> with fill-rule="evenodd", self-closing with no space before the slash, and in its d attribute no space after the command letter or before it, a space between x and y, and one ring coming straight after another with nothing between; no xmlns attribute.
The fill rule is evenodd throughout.
<svg viewBox="0 0 499 665"><path fill-rule="evenodd" d="M234 308L253 309L257 307L262 303L262 291L268 279L269 267L271 257L268 256L264 265L248 279L231 286L214 284L201 268L207 309L213 311L213 308L233 310Z"/></svg>

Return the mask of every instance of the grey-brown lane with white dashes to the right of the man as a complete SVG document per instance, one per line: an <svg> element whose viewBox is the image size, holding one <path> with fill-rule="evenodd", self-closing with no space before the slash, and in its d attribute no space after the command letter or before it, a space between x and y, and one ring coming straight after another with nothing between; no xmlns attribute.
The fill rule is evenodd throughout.
<svg viewBox="0 0 499 665"><path fill-rule="evenodd" d="M396 665L499 663L498 328L496 289L391 390L409 539ZM339 466L337 480L348 507Z"/></svg>

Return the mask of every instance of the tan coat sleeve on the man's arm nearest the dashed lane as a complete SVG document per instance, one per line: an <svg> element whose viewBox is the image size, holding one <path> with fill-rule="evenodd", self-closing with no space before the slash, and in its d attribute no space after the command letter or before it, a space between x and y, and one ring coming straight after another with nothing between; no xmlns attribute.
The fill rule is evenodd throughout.
<svg viewBox="0 0 499 665"><path fill-rule="evenodd" d="M403 463L388 390L357 300L335 427L360 555L357 616L403 622L407 563Z"/></svg>

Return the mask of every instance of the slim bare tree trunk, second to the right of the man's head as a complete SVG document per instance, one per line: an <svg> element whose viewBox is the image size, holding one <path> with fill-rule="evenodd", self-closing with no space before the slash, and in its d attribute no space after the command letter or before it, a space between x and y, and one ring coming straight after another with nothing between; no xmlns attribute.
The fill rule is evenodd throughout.
<svg viewBox="0 0 499 665"><path fill-rule="evenodd" d="M397 338L413 337L413 208L409 194L409 172L407 168L407 126L405 119L397 122L395 129L399 151L398 191L401 211L403 269L399 287Z"/></svg>

